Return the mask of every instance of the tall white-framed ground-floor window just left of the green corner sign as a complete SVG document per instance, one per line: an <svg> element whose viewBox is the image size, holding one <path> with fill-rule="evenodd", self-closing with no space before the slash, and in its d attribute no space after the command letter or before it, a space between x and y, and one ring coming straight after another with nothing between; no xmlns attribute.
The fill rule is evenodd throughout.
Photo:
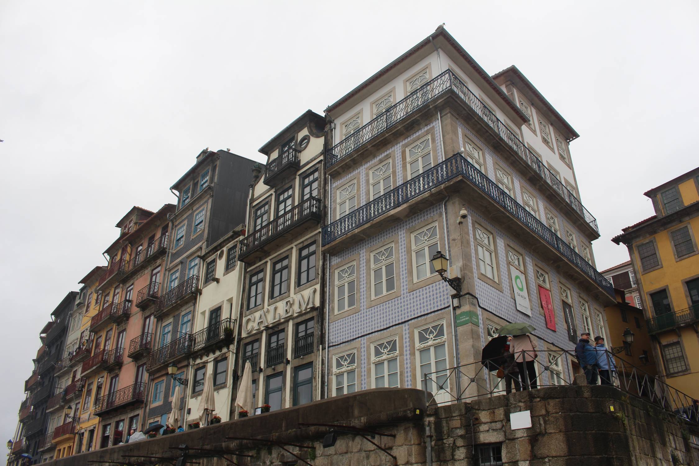
<svg viewBox="0 0 699 466"><path fill-rule="evenodd" d="M445 323L444 321L431 323L415 330L415 334L421 387L438 398L438 391L449 390ZM427 379L425 379L426 374L429 374Z"/></svg>

